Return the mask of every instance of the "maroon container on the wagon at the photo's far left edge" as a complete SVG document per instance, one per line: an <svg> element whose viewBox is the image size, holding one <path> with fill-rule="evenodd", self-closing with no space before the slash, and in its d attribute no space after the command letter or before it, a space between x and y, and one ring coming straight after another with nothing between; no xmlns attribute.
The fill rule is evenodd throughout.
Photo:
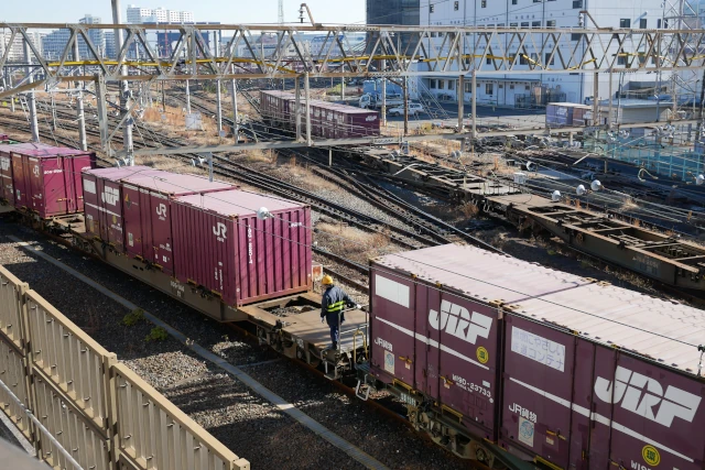
<svg viewBox="0 0 705 470"><path fill-rule="evenodd" d="M96 154L41 143L10 150L15 207L46 219L84 210L80 173L96 166Z"/></svg>

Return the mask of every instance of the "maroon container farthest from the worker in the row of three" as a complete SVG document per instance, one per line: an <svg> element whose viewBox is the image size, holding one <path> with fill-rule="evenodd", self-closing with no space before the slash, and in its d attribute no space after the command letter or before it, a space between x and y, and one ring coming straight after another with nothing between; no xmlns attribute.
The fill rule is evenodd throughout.
<svg viewBox="0 0 705 470"><path fill-rule="evenodd" d="M117 252L124 252L122 190L120 179L161 174L149 166L87 170L83 173L86 234L98 238Z"/></svg>

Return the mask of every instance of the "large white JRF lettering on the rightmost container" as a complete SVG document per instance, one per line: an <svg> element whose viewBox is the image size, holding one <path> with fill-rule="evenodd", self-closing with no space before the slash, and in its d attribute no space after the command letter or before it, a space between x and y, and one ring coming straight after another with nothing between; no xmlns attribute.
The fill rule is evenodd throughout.
<svg viewBox="0 0 705 470"><path fill-rule="evenodd" d="M598 376L595 394L606 403L621 402L622 408L666 427L671 427L675 417L692 423L702 400L673 385L663 393L663 386L655 379L622 367L617 367L614 384Z"/></svg>

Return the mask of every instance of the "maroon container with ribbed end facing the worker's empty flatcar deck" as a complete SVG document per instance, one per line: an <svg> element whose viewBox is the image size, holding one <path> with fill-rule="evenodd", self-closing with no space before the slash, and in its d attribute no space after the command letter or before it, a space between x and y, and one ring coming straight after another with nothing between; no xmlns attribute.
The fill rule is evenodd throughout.
<svg viewBox="0 0 705 470"><path fill-rule="evenodd" d="M232 306L312 288L308 206L229 190L177 197L172 211L178 281Z"/></svg>

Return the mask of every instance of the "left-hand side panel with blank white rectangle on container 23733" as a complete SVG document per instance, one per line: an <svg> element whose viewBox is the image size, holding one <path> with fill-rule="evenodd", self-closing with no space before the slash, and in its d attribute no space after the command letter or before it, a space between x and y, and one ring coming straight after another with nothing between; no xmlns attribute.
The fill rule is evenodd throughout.
<svg viewBox="0 0 705 470"><path fill-rule="evenodd" d="M372 365L413 387L417 342L414 338L415 285L388 269L373 269L371 283Z"/></svg>

